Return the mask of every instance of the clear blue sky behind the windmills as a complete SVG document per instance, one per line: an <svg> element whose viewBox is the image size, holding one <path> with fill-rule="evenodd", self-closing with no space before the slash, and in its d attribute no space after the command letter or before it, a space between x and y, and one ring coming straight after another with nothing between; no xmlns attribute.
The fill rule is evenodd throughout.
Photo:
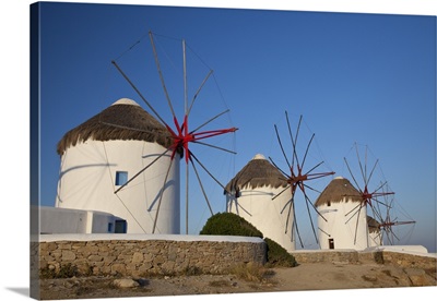
<svg viewBox="0 0 437 301"><path fill-rule="evenodd" d="M60 166L56 144L67 131L120 97L144 105L110 61L151 29L185 38L214 70L215 81L209 83L217 83L223 98L197 106L203 118L212 117L209 109L228 108L223 125L239 129L231 142L220 141L237 152L226 164L216 166L222 162L217 156L224 156L216 150L202 153L224 184L258 153L285 169L274 124L285 130L285 110L293 122L303 115L303 139L307 130L316 133L311 150L316 161L326 161L320 171L350 178L343 158L351 156L355 142L368 145L395 202L417 221L403 243L436 252L434 16L45 3L40 17L42 205L55 203ZM121 60L168 118L161 85L147 77L157 79L156 69L142 69L141 63L129 69L151 56L141 47L150 49L147 37ZM189 71L205 75L201 67ZM191 79L196 89L199 79ZM291 145L285 148L292 152ZM315 184L320 189L329 180ZM223 212L222 189L210 185L214 212ZM181 196L184 201L184 189ZM190 231L196 233L208 212L202 197L190 202ZM299 214L304 222L306 213ZM304 233L311 243L310 232Z"/></svg>

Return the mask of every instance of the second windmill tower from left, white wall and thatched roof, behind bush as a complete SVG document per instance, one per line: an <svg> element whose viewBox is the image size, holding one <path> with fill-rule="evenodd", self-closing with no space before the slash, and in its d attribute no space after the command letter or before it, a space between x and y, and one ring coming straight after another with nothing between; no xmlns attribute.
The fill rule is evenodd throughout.
<svg viewBox="0 0 437 301"><path fill-rule="evenodd" d="M293 206L286 178L264 156L256 155L226 185L226 210L252 224L288 252L295 250ZM274 195L279 197L272 200Z"/></svg>

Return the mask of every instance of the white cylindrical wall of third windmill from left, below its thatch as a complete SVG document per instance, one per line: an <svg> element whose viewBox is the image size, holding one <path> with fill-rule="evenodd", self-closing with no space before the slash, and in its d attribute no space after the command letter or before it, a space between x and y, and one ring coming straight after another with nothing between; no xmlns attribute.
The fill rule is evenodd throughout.
<svg viewBox="0 0 437 301"><path fill-rule="evenodd" d="M361 208L358 215L359 202L345 202L345 200L343 197L342 202L332 202L331 206L323 204L317 208L327 219L320 216L317 219L320 249L330 249L330 239L333 239L334 249L364 250L369 246L366 206Z"/></svg>

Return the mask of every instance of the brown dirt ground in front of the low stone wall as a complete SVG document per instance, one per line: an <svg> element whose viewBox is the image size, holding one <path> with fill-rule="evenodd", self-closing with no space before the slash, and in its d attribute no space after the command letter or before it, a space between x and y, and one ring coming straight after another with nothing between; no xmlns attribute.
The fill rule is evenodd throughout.
<svg viewBox="0 0 437 301"><path fill-rule="evenodd" d="M436 270L378 264L300 264L271 268L261 281L234 275L166 276L128 279L134 287L119 288L115 278L44 279L40 299L126 298L147 296L218 294L330 289L436 286Z"/></svg>

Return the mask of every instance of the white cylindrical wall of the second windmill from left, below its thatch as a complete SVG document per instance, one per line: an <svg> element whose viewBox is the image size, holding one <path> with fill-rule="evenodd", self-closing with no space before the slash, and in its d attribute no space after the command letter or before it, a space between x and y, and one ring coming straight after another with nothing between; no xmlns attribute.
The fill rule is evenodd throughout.
<svg viewBox="0 0 437 301"><path fill-rule="evenodd" d="M293 208L290 214L288 227L285 229L288 215L287 202L292 198L291 190L272 200L283 190L283 188L274 189L272 186L253 190L245 188L237 198L226 195L226 207L227 212L237 214L252 224L263 233L264 238L274 240L291 252L296 249L296 236L292 234Z"/></svg>

